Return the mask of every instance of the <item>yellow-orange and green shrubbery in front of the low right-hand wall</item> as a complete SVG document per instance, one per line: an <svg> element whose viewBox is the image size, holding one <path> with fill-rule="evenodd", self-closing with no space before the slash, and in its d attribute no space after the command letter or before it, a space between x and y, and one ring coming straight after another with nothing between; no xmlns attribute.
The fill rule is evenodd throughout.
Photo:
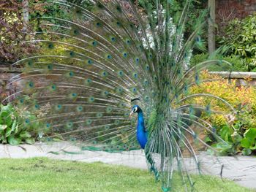
<svg viewBox="0 0 256 192"><path fill-rule="evenodd" d="M203 78L216 79L217 76L203 73ZM256 88L252 86L236 87L235 80L218 80L213 82L202 82L200 86L192 87L192 93L211 93L228 101L236 110L236 117L231 115L205 115L203 118L211 122L219 137L227 142L217 143L208 135L206 141L214 147L219 148L222 153L242 153L250 155L256 152ZM198 104L214 106L213 110L225 111L222 102L217 99L196 99ZM227 110L226 110L227 112Z"/></svg>

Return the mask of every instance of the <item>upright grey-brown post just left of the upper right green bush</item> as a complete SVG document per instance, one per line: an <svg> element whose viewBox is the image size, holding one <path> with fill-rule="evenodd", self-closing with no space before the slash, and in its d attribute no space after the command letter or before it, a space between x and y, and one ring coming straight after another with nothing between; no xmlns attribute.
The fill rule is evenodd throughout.
<svg viewBox="0 0 256 192"><path fill-rule="evenodd" d="M215 46L215 0L208 0L208 9L210 11L210 18L208 19L208 52L214 53Z"/></svg>

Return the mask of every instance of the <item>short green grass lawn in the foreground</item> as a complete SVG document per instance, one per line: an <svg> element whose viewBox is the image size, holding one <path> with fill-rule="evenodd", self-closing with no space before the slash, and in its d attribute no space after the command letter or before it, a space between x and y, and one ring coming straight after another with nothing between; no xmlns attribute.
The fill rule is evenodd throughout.
<svg viewBox="0 0 256 192"><path fill-rule="evenodd" d="M252 191L217 177L193 176L196 191ZM175 177L176 190L183 187ZM151 173L102 163L58 161L48 158L0 159L0 191L160 191Z"/></svg>

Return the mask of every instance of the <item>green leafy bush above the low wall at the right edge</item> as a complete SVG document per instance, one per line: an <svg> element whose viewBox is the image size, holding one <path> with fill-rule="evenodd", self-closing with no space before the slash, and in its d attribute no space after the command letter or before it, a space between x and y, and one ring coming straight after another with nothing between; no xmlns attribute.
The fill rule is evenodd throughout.
<svg viewBox="0 0 256 192"><path fill-rule="evenodd" d="M256 15L231 21L225 34L219 43L230 47L227 55L238 55L244 59L247 71L256 70Z"/></svg>

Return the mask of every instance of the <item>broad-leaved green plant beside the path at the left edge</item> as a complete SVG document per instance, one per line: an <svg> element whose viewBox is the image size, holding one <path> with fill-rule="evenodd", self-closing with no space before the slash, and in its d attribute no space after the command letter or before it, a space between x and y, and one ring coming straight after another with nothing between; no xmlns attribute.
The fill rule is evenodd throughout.
<svg viewBox="0 0 256 192"><path fill-rule="evenodd" d="M12 104L2 105L0 111L0 142L9 143L10 145L19 145L21 142L33 144L35 142L34 124L32 127L26 126L29 120L34 120L34 115L29 115L29 112L24 112L20 115ZM32 131L33 130L33 131Z"/></svg>

